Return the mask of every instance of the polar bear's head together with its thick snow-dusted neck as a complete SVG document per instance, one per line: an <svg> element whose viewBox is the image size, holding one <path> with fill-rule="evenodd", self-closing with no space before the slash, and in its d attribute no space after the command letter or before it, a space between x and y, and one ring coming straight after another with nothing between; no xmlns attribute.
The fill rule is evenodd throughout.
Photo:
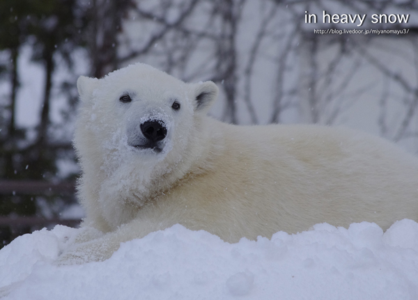
<svg viewBox="0 0 418 300"><path fill-rule="evenodd" d="M187 172L187 156L199 156L196 139L218 93L211 81L186 84L142 63L103 79L79 77L77 88L82 198L91 189L99 201L139 205L153 184Z"/></svg>

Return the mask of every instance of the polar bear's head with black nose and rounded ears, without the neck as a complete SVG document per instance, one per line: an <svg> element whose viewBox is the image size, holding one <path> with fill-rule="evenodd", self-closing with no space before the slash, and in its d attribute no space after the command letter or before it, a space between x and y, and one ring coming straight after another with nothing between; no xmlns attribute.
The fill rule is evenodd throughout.
<svg viewBox="0 0 418 300"><path fill-rule="evenodd" d="M194 118L206 113L218 92L211 81L185 84L141 63L104 79L79 77L77 88L81 123L100 136L102 147L148 159L182 150Z"/></svg>

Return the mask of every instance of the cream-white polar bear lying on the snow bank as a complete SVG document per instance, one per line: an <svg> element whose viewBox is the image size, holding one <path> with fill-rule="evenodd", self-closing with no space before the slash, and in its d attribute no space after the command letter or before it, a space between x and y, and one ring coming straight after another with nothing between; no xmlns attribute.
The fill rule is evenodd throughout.
<svg viewBox="0 0 418 300"><path fill-rule="evenodd" d="M316 223L383 229L418 221L418 159L392 143L317 125L236 126L207 115L211 81L142 63L80 77L75 148L84 233L63 257L104 260L176 223L226 242Z"/></svg>

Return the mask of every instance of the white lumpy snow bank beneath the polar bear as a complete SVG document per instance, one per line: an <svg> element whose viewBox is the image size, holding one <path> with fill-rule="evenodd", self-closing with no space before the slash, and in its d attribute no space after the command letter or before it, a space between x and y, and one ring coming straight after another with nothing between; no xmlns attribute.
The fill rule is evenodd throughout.
<svg viewBox="0 0 418 300"><path fill-rule="evenodd" d="M406 219L385 234L324 223L237 244L176 225L104 262L56 267L76 233L56 226L3 248L3 299L418 299L418 223Z"/></svg>

